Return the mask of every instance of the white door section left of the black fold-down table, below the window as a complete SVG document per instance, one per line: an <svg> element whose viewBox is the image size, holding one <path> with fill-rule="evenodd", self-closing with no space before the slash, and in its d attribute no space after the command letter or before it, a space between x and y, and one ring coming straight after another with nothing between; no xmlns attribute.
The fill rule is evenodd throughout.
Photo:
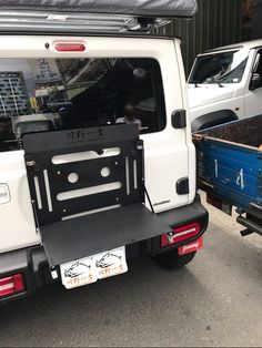
<svg viewBox="0 0 262 348"><path fill-rule="evenodd" d="M29 194L23 151L0 153L0 183L10 201L0 205L0 253L40 243Z"/></svg>

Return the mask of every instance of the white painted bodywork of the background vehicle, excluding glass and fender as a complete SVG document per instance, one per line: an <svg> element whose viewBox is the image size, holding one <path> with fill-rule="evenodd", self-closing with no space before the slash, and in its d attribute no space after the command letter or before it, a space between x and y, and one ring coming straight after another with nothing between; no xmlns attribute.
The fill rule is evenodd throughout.
<svg viewBox="0 0 262 348"><path fill-rule="evenodd" d="M215 49L198 57L235 50L235 47L238 44ZM258 49L262 48L262 40L240 43L239 47L249 52L245 70L239 83L222 83L222 88L218 83L204 83L198 86L192 83L187 84L191 122L195 117L220 110L231 110L239 119L262 113L262 88L249 90L252 66Z"/></svg>

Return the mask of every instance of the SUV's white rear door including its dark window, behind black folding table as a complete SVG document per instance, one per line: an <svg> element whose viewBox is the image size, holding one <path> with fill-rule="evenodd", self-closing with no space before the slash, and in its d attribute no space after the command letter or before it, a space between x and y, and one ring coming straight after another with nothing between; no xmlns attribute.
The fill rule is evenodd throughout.
<svg viewBox="0 0 262 348"><path fill-rule="evenodd" d="M84 50L58 49L58 43L67 42L83 45ZM78 124L110 125L123 116L123 105L130 100L142 122L145 186L155 212L192 201L194 149L189 130L171 125L172 112L184 109L178 42L174 45L171 39L157 38L2 35L0 43L0 183L2 195L9 197L0 204L4 226L0 252L40 243L22 133ZM122 84L115 88L115 81ZM190 195L187 191L178 194L177 183L187 177Z"/></svg>

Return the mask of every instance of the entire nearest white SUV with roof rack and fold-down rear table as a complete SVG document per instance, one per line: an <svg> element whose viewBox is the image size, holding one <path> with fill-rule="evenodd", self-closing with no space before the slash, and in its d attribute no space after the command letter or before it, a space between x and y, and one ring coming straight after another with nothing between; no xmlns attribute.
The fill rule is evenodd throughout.
<svg viewBox="0 0 262 348"><path fill-rule="evenodd" d="M180 41L150 32L195 1L31 2L0 4L0 303L185 265L208 213Z"/></svg>

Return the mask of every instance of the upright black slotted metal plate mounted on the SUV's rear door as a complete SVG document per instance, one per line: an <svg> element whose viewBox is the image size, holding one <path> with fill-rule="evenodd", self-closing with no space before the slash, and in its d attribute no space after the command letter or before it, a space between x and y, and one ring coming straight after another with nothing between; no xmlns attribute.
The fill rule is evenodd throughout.
<svg viewBox="0 0 262 348"><path fill-rule="evenodd" d="M23 146L39 225L104 206L143 202L143 146L137 125L26 134ZM113 155L103 156L107 151ZM75 161L82 155L87 160ZM102 176L103 170L110 174ZM69 182L71 174L77 174L77 182ZM104 191L107 184L112 190Z"/></svg>

